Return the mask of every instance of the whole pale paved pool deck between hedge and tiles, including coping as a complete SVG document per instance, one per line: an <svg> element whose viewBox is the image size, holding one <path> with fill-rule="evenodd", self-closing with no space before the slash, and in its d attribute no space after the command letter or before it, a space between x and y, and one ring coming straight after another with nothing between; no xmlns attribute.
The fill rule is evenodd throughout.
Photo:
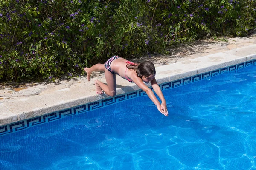
<svg viewBox="0 0 256 170"><path fill-rule="evenodd" d="M156 54L132 61L154 62L157 82L162 84L256 59L256 34L227 40L198 40L172 48L170 56ZM107 98L105 94L96 94L95 79L105 82L104 74L97 72L92 74L90 82L84 75L57 83L3 88L0 90L0 126ZM134 83L119 76L116 79L117 95L139 90Z"/></svg>

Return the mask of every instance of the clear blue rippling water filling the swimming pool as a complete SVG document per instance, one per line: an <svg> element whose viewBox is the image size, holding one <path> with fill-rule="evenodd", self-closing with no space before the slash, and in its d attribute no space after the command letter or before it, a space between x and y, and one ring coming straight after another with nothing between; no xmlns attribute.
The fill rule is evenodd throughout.
<svg viewBox="0 0 256 170"><path fill-rule="evenodd" d="M0 136L0 170L256 169L256 66Z"/></svg>

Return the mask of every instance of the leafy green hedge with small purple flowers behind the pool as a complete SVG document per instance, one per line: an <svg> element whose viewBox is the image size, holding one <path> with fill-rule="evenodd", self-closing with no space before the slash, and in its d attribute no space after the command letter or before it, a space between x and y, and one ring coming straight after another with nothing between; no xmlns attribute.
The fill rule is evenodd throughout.
<svg viewBox="0 0 256 170"><path fill-rule="evenodd" d="M245 35L255 8L256 0L0 1L0 79L73 77L112 55Z"/></svg>

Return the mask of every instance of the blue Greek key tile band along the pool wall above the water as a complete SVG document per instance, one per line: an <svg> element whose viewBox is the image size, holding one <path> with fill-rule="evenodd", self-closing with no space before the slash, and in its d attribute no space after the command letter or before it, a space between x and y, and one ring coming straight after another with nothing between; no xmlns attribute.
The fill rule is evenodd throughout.
<svg viewBox="0 0 256 170"><path fill-rule="evenodd" d="M170 88L177 88L179 86L186 85L186 84L189 84L192 82L196 82L196 81L199 81L202 79L208 79L209 77L213 77L218 74L222 74L224 72L235 71L235 70L247 67L249 65L256 65L256 59L247 61L247 62L243 62L243 63L237 64L237 65L232 65L232 66L229 66L226 68L220 68L218 70L209 71L207 73L198 74L198 75L195 75L192 77L186 77L186 78L175 80L172 82L166 82L164 84L161 84L160 88L162 90L167 90ZM146 93L142 90L134 91L131 93L121 94L121 95L111 97L108 99L103 99L103 100L96 101L96 102L86 103L84 105L80 105L80 106L77 106L74 108L69 108L69 109L65 109L62 111L57 111L54 113L49 113L46 115L38 116L38 117L35 117L32 119L22 120L20 122L15 122L15 123L12 123L9 125L3 125L0 127L0 136L6 135L8 133L17 132L19 130L23 130L23 129L26 129L26 128L29 128L29 127L32 127L35 125L40 125L42 123L47 123L47 122L55 121L58 119L62 119L66 116L72 116L72 115L76 115L76 114L85 113L87 111L92 111L94 109L112 105L117 102L132 99L134 97L145 96L145 95L146 95Z"/></svg>

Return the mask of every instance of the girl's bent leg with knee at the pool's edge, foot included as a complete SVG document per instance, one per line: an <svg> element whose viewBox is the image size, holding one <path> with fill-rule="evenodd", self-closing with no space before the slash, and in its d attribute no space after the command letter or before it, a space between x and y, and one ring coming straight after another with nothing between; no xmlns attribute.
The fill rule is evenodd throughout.
<svg viewBox="0 0 256 170"><path fill-rule="evenodd" d="M99 80L95 80L96 92L98 94L103 94L103 90L108 96L116 96L116 74L112 74L107 69L105 69L105 78L107 85Z"/></svg>

